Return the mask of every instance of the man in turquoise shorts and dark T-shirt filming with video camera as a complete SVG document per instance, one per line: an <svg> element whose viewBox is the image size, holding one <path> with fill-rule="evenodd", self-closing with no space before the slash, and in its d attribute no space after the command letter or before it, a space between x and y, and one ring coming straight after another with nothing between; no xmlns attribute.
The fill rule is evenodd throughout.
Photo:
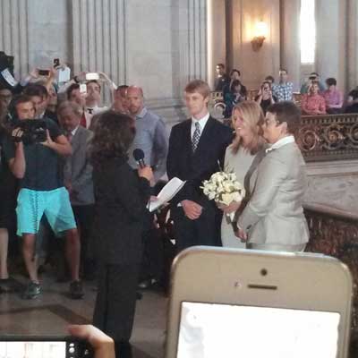
<svg viewBox="0 0 358 358"><path fill-rule="evenodd" d="M34 120L35 106L30 97L14 100L16 126L22 130L25 172L18 196L17 234L22 237L22 254L30 276L23 298L31 299L41 293L38 281L38 258L35 254L36 235L41 217L45 215L55 234L64 233L66 258L71 270L70 295L83 296L79 280L80 239L73 217L68 192L59 173L61 157L71 155L72 147L57 124L44 117Z"/></svg>

